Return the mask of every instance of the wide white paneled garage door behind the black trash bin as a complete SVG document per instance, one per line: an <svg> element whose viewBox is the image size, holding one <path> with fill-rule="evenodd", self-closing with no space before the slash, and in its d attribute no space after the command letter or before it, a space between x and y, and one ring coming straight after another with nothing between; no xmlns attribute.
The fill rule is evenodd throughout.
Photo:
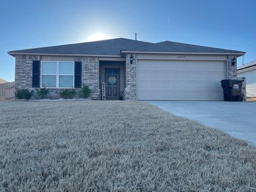
<svg viewBox="0 0 256 192"><path fill-rule="evenodd" d="M225 61L138 60L138 100L223 100Z"/></svg>

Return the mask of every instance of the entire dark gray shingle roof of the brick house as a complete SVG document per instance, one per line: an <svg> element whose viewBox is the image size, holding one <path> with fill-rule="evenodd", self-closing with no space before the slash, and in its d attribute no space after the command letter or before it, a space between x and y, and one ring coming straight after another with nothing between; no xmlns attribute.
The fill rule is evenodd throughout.
<svg viewBox="0 0 256 192"><path fill-rule="evenodd" d="M121 51L148 52L205 52L205 53L241 53L245 52L164 41L159 43L116 38L94 42L67 44L34 49L10 51L12 53L31 54L82 54L82 55L120 55Z"/></svg>

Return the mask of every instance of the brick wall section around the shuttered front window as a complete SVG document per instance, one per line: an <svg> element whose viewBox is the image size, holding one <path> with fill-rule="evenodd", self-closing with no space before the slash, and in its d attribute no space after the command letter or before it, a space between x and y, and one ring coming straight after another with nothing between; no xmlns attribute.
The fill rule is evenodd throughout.
<svg viewBox="0 0 256 192"><path fill-rule="evenodd" d="M70 58L70 57L69 57ZM87 84L92 90L91 99L100 99L99 89L99 59L98 57L71 57L70 61L82 62L82 84ZM16 55L15 56L15 90L34 90L32 99L37 99L36 88L32 88L32 63L33 60L41 60L40 55ZM41 74L41 72L40 72ZM60 98L59 91L62 88L50 88L47 98ZM76 88L75 98L79 98L80 89Z"/></svg>

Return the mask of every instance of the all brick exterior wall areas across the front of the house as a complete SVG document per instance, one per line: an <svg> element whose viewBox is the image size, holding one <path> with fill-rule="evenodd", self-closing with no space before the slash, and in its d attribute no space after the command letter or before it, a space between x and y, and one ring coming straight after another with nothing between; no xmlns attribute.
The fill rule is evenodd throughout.
<svg viewBox="0 0 256 192"><path fill-rule="evenodd" d="M130 64L131 54L126 54L126 88L123 93L124 100L136 100L136 64L137 64L137 55L132 54L134 57L133 63ZM153 55L152 55L153 56ZM41 60L40 55L16 55L15 61L15 89L28 88L30 90L35 90L32 88L32 61ZM51 56L49 56L50 58ZM223 56L224 57L224 56ZM237 71L236 64L232 66L232 59L236 56L225 56L228 59L228 78L236 79ZM63 57L62 57L63 58ZM99 89L99 58L98 57L86 57L86 56L73 56L68 57L68 61L81 61L82 62L82 84L88 84L92 89L91 98L92 99L101 99L100 98L100 89ZM154 58L154 57L153 57ZM45 59L43 59L45 60ZM48 59L50 61L50 59ZM210 60L210 59L209 59ZM62 61L56 58L53 61ZM59 91L63 90L61 88L50 88L50 94L48 98L55 99L60 98ZM76 98L79 98L79 90L76 89ZM36 92L32 98L38 98Z"/></svg>

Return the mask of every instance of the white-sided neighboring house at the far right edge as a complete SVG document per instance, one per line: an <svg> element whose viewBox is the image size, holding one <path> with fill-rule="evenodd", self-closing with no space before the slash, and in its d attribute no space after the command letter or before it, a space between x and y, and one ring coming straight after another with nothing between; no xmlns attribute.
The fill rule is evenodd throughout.
<svg viewBox="0 0 256 192"><path fill-rule="evenodd" d="M246 77L246 96L256 97L256 59L238 66L237 76Z"/></svg>

